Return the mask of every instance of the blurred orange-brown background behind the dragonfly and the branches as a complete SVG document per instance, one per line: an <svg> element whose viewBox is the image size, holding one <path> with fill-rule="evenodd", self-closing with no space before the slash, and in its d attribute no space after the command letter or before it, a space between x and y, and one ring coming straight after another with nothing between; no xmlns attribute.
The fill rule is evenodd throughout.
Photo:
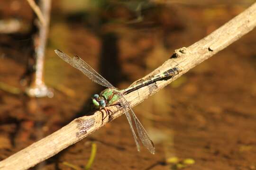
<svg viewBox="0 0 256 170"><path fill-rule="evenodd" d="M29 85L34 12L27 0L1 0L0 160L86 114L91 95L103 90L55 49L80 56L124 89L253 2L53 0L44 79L54 96L35 98L22 93ZM137 152L121 116L32 169L72 169L64 162L84 167L91 144L97 146L92 170L256 169L255 49L253 30L134 108L155 155L145 147Z"/></svg>

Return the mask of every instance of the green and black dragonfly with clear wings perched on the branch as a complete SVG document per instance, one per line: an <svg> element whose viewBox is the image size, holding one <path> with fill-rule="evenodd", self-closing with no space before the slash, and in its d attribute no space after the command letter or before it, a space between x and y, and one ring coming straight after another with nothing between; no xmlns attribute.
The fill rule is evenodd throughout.
<svg viewBox="0 0 256 170"><path fill-rule="evenodd" d="M107 106L115 105L118 101L121 105L122 109L125 112L125 115L128 119L128 123L130 126L130 129L132 131L132 135L135 140L135 144L137 146L137 151L140 151L140 146L138 142L137 134L135 133L135 130L133 128L132 119L135 122L135 126L137 128L138 136L142 142L142 144L148 149L148 151L152 154L155 153L155 145L148 136L145 128L140 123L139 119L135 115L134 111L131 109L131 106L129 105L128 101L125 98L125 94L130 93L132 91L135 91L143 86L149 85L155 81L165 79L171 76L175 76L180 72L179 68L172 68L164 73L161 73L159 75L153 76L152 78L128 87L124 90L119 90L116 87L114 87L109 81L107 81L104 77L102 77L99 73L97 73L91 66L89 66L85 61L83 61L78 56L74 56L73 58L69 57L67 54L60 50L55 50L55 53L64 61L69 63L74 68L77 68L80 70L85 76L90 78L93 82L107 87L107 89L103 90L100 94L94 94L92 96L92 103L96 109L104 109L107 114L109 113L109 110L106 108ZM130 116L130 113L132 117Z"/></svg>

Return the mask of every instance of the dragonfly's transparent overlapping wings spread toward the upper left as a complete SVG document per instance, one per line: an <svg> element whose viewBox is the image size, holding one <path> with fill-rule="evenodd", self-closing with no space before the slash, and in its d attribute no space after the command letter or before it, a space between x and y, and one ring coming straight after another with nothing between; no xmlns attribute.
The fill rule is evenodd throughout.
<svg viewBox="0 0 256 170"><path fill-rule="evenodd" d="M69 63L74 68L79 69L82 73L90 78L93 82L105 87L114 87L105 78L103 78L99 73L97 73L93 68L91 68L85 61L80 59L78 56L73 58L69 57L67 54L60 50L55 50L55 53L64 61Z"/></svg>

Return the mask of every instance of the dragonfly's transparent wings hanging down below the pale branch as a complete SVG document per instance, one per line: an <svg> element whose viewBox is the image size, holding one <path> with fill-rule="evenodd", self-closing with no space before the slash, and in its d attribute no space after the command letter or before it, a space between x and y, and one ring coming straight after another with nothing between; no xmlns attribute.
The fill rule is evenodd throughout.
<svg viewBox="0 0 256 170"><path fill-rule="evenodd" d="M126 110L126 115L129 115L129 119L130 119L129 111L132 113L132 117L134 119L134 122L135 122L135 125L136 125L136 128L137 128L138 136L139 136L142 144L148 149L148 151L150 153L155 154L155 145L152 142L152 140L149 138L145 128L142 126L142 124L138 120L137 116L135 115L134 111L132 110L131 106L129 105L129 103L126 100L126 98L124 97L124 95L119 94L119 96L120 96L121 101L122 101L121 105L125 105L125 106L122 106L122 107ZM128 119L128 116L127 116L127 119ZM128 121L131 121L129 119L128 119ZM135 133L134 130L133 130L133 127L132 127L132 123L129 122L129 124L130 124L130 127L131 127L133 133ZM136 134L134 136L136 136ZM137 138L137 136L136 136L136 138ZM137 145L136 140L135 140L135 142L136 142L136 145Z"/></svg>

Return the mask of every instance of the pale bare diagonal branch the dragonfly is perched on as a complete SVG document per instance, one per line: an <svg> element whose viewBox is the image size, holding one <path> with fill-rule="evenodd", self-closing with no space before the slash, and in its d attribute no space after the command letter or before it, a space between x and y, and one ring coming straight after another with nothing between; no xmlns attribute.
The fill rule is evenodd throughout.
<svg viewBox="0 0 256 170"><path fill-rule="evenodd" d="M162 66L155 69L155 71L153 71L150 75L163 72L168 68L173 68L176 63L179 63L176 67L182 68L183 71L168 81L157 82L155 89L150 89L148 86L146 86L140 88L136 92L129 93L126 95L126 98L130 102L130 105L135 106L144 101L146 98L158 92L160 89L174 81L174 79L181 76L189 69L195 67L205 59L210 58L220 50L226 48L229 44L238 40L244 34L247 34L255 26L256 3L247 8L247 10L239 14L237 17L230 20L224 26L221 26L218 30L201 39L199 42L192 44L188 48L176 50L173 55L173 57L176 57L175 59L168 59ZM174 62L174 60L176 62ZM139 97L137 93L139 93ZM113 111L111 120L116 119L123 114L118 106L112 106L109 109ZM105 112L104 116L106 116ZM103 127L109 121L106 118L104 122L102 122L101 119L101 111L96 111L91 116L83 116L81 118L74 119L71 123L62 127L55 133L34 144L31 144L27 148L13 154L9 158L0 161L0 170L25 170L33 167L37 163L46 160L56 153L59 153L71 144L82 140L92 132ZM136 148L134 151L136 151Z"/></svg>

